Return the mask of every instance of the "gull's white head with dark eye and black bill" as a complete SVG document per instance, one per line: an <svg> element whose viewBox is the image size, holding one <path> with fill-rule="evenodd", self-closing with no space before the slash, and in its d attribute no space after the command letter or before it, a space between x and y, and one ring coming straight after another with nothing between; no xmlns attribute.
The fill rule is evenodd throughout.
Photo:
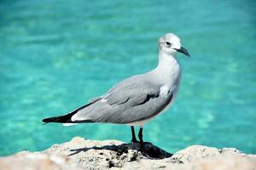
<svg viewBox="0 0 256 170"><path fill-rule="evenodd" d="M190 56L188 50L182 47L179 37L172 33L167 33L160 37L159 50L161 53L172 56L177 54L177 52Z"/></svg>

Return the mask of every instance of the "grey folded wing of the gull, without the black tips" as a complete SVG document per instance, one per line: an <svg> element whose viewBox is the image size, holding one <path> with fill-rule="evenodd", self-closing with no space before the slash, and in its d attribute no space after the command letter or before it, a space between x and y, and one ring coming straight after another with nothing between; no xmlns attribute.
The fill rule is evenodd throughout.
<svg viewBox="0 0 256 170"><path fill-rule="evenodd" d="M172 94L161 97L160 86L128 79L96 99L95 103L76 113L72 120L121 124L143 121L160 113L171 102Z"/></svg>

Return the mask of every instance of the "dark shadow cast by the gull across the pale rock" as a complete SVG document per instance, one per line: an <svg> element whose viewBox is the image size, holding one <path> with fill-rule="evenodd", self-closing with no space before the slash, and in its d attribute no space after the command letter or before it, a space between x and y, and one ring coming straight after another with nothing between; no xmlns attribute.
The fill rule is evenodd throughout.
<svg viewBox="0 0 256 170"><path fill-rule="evenodd" d="M69 154L68 156L73 156L76 154L79 154L79 152L86 152L88 150L112 150L116 152L117 156L122 156L123 154L128 154L128 152L131 151L137 151L137 155L141 154L142 156L146 156L150 159L165 159L168 157L171 157L172 154L166 152L166 150L162 150L159 147L155 146L154 144L145 142L144 147L141 146L141 144L138 143L130 143L130 144L119 144L119 145L104 145L101 147L90 147L90 148L79 148L73 151L72 154Z"/></svg>

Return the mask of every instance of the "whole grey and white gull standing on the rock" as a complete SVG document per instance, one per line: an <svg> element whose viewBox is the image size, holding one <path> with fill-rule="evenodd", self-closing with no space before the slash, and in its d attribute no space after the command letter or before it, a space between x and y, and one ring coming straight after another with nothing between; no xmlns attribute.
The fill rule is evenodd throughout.
<svg viewBox="0 0 256 170"><path fill-rule="evenodd" d="M45 118L43 122L64 125L108 122L131 126L131 142L137 143L134 126L139 126L139 143L143 145L143 125L168 109L177 96L181 68L177 52L189 56L180 39L167 33L159 40L159 63L152 71L126 78L106 94L63 116Z"/></svg>

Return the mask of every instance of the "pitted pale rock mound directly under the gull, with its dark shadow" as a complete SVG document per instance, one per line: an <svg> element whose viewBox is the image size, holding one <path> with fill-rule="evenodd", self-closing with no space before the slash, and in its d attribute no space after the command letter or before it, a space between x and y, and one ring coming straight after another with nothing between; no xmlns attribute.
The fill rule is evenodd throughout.
<svg viewBox="0 0 256 170"><path fill-rule="evenodd" d="M68 156L86 169L123 167L127 162L147 159L147 156L156 159L172 156L149 143L145 144L145 151L142 152L140 144L124 144L117 140L85 140L78 137L64 144L55 144L44 150L44 153Z"/></svg>

